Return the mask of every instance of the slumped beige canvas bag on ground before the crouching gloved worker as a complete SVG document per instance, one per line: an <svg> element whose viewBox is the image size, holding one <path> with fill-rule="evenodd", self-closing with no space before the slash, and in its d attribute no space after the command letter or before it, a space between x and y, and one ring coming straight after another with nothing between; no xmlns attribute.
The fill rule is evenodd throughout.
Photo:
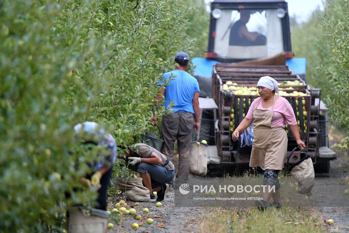
<svg viewBox="0 0 349 233"><path fill-rule="evenodd" d="M133 202L149 202L149 189L143 186L142 178L114 178L115 183L125 192L126 198Z"/></svg>

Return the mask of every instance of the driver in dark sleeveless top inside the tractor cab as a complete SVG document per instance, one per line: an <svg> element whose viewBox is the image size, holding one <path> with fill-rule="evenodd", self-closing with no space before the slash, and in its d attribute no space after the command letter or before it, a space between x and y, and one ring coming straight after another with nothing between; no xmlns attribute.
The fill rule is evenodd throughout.
<svg viewBox="0 0 349 233"><path fill-rule="evenodd" d="M246 23L250 20L251 11L241 10L240 19L230 28L229 45L253 46L266 45L267 38L257 31L248 31Z"/></svg>

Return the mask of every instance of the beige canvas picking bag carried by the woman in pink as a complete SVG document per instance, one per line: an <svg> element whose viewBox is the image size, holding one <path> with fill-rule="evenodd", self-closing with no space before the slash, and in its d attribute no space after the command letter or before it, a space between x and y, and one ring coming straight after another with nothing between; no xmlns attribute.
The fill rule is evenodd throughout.
<svg viewBox="0 0 349 233"><path fill-rule="evenodd" d="M298 147L294 148L288 156L287 168L290 174L298 182L298 193L306 194L308 197L310 197L311 190L313 189L315 184L315 172L313 161L311 160L310 155L307 155L306 151L304 151L305 157L302 160L290 166L290 157L297 148Z"/></svg>

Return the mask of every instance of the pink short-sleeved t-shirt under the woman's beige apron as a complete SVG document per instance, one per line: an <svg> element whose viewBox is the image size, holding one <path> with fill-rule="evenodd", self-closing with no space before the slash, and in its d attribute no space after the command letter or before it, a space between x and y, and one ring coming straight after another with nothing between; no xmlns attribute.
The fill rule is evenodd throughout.
<svg viewBox="0 0 349 233"><path fill-rule="evenodd" d="M253 120L252 111L256 103L260 100L260 98L262 97L258 97L257 99L253 100L251 107L246 115L247 119ZM270 106L268 108L263 108L262 101L260 101L257 108L262 110L270 110L272 107ZM270 123L272 126L284 128L286 124L297 125L295 113L293 112L291 104L287 101L287 99L280 97L279 101L277 101L277 103L274 103L273 111L274 115L272 118L272 122Z"/></svg>

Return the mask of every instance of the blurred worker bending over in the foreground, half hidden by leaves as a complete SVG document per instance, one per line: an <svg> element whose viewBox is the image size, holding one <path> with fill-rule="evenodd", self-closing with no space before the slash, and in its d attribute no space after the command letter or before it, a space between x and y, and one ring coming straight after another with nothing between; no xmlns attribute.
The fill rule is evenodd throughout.
<svg viewBox="0 0 349 233"><path fill-rule="evenodd" d="M97 189L98 197L94 207L95 209L106 211L107 189L112 174L112 166L117 155L115 139L111 134L106 134L104 129L102 129L98 123L92 121L86 121L82 124L79 123L75 125L74 131L76 139L86 145L89 151L93 151L96 146L101 146L101 154L98 154L96 158L86 158L90 172L88 172L84 177L81 177L79 181L86 188L94 186ZM74 191L77 191L77 188L74 188ZM66 193L66 196L67 199L70 198L69 193ZM67 212L67 229L68 232L69 230L72 230L72 228L69 229L69 212Z"/></svg>

